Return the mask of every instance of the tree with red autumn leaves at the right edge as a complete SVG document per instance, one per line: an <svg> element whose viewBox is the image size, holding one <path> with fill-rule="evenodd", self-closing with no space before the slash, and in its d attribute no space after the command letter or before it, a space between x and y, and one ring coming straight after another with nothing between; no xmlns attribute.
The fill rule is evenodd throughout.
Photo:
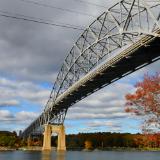
<svg viewBox="0 0 160 160"><path fill-rule="evenodd" d="M144 75L144 80L135 88L133 94L125 96L125 111L144 117L143 132L157 132L160 129L160 74Z"/></svg>

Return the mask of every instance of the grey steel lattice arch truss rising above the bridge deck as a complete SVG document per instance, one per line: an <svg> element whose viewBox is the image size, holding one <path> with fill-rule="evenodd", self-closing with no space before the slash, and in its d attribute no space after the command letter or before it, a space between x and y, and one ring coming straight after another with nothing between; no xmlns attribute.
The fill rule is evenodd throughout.
<svg viewBox="0 0 160 160"><path fill-rule="evenodd" d="M44 123L63 123L68 107L57 108L59 97L120 52L141 43L145 36L160 37L159 29L160 0L121 0L102 13L73 45L58 73L44 112L24 133Z"/></svg>

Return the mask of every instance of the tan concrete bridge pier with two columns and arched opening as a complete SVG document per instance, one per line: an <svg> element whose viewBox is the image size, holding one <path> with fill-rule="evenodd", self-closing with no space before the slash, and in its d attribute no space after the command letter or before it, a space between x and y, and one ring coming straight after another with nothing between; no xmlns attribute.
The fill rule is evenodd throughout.
<svg viewBox="0 0 160 160"><path fill-rule="evenodd" d="M51 135L52 133L57 133L58 135L58 144L57 151L66 150L66 141L65 141L65 127L64 125L45 125L44 138L43 138L43 148L42 150L51 151Z"/></svg>

